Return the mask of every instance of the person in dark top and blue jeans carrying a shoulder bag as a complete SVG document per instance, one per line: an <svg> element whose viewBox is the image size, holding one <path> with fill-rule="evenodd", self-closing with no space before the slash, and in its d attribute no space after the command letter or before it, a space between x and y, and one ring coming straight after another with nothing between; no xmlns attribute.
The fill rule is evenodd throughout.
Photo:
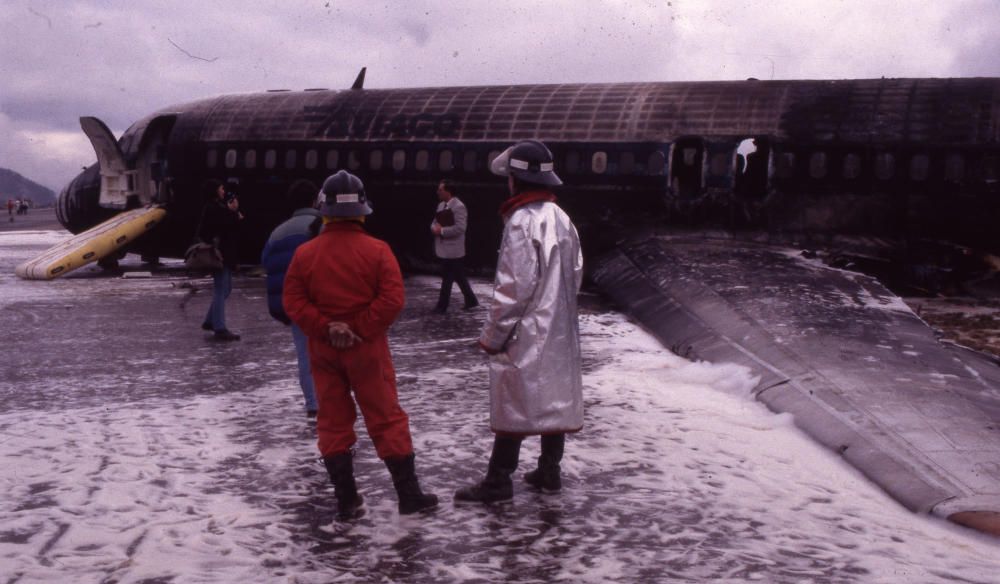
<svg viewBox="0 0 1000 584"><path fill-rule="evenodd" d="M215 241L222 254L222 268L212 273L212 303L201 324L206 331L214 331L219 341L238 341L240 336L226 327L226 299L233 291L233 272L239 263L239 223L243 220L235 183L216 183L212 195L202 208L198 237L202 241Z"/></svg>

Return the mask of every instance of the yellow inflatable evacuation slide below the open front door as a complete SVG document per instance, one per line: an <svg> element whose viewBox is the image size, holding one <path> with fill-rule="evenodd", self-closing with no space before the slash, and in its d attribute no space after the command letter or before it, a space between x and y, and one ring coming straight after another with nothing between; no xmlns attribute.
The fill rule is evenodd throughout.
<svg viewBox="0 0 1000 584"><path fill-rule="evenodd" d="M155 227L167 212L160 207L133 209L74 235L33 260L17 266L25 280L51 280L106 257Z"/></svg>

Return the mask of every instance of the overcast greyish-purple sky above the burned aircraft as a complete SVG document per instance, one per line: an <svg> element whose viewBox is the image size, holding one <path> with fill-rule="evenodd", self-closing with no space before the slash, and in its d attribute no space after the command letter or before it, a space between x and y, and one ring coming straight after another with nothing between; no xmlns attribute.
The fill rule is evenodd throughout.
<svg viewBox="0 0 1000 584"><path fill-rule="evenodd" d="M1000 76L1000 0L2 0L0 166L59 190L173 103L265 89Z"/></svg>

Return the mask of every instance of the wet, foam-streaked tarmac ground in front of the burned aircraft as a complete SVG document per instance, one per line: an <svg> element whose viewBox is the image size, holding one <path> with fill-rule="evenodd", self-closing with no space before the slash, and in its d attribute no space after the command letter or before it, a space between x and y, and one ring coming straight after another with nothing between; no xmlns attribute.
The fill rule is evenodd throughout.
<svg viewBox="0 0 1000 584"><path fill-rule="evenodd" d="M581 310L587 418L559 495L453 505L491 435L484 312L429 315L407 280L391 332L417 467L442 498L399 517L370 441L368 513L334 520L262 278L236 278L219 343L210 280L13 267L62 237L0 233L0 582L995 582L996 540L912 514L789 420L734 366L659 347L593 295ZM131 261L132 258L129 258ZM146 268L124 266L128 276ZM489 283L476 281L481 297ZM456 296L457 298L457 296ZM359 428L360 430L360 428ZM538 454L528 440L520 471ZM519 471L519 475L520 475ZM518 476L519 476L518 475Z"/></svg>

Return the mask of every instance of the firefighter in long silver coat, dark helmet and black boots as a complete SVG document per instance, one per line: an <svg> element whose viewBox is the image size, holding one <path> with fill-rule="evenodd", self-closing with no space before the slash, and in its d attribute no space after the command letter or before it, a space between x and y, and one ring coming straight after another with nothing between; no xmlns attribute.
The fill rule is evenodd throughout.
<svg viewBox="0 0 1000 584"><path fill-rule="evenodd" d="M511 198L501 207L503 241L493 302L479 338L490 355L490 426L496 434L486 477L456 491L456 501L513 497L521 441L541 435L538 467L525 481L562 487L565 435L583 427L583 380L577 293L583 254L573 222L550 187L562 184L541 142L519 142L491 166L506 175Z"/></svg>

